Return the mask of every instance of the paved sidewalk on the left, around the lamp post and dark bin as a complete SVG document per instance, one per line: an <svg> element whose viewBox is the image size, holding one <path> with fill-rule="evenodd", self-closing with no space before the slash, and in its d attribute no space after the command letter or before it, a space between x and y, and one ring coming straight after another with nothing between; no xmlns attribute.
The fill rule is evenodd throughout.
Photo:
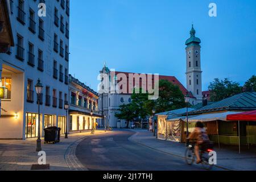
<svg viewBox="0 0 256 182"><path fill-rule="evenodd" d="M110 133L107 131L106 133ZM96 130L94 135L106 134L104 130ZM90 131L68 135L68 139L61 136L60 143L44 144L42 150L46 152L46 163L50 170L86 170L76 158L77 144L91 136ZM27 171L32 164L38 164L36 138L27 140L0 140L0 171Z"/></svg>

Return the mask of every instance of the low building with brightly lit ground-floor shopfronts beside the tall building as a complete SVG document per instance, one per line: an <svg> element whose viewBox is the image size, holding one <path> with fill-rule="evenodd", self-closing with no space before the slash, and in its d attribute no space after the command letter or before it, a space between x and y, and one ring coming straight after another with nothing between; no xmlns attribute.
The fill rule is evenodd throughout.
<svg viewBox="0 0 256 182"><path fill-rule="evenodd" d="M69 75L69 133L91 130L101 118L98 93Z"/></svg>

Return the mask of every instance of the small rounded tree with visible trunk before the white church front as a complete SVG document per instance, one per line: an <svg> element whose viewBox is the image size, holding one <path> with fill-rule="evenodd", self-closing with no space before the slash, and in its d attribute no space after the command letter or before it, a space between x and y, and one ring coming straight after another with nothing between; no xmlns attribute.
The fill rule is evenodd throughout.
<svg viewBox="0 0 256 182"><path fill-rule="evenodd" d="M135 115L135 108L132 104L123 104L119 106L119 113L115 113L115 117L118 119L125 119L126 128L129 126L129 122L134 119Z"/></svg>

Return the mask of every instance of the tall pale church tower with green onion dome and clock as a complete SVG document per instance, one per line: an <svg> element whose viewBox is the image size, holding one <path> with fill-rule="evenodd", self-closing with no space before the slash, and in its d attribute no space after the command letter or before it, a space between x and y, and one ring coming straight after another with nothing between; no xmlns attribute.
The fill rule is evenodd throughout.
<svg viewBox="0 0 256 182"><path fill-rule="evenodd" d="M187 60L187 90L196 98L193 105L202 102L202 71L201 71L201 40L197 38L196 31L192 28L190 38L186 41L186 60Z"/></svg>

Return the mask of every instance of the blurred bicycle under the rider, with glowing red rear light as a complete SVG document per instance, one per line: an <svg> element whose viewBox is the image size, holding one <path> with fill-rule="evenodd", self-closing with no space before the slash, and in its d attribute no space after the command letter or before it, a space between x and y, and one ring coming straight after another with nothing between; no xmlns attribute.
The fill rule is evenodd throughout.
<svg viewBox="0 0 256 182"><path fill-rule="evenodd" d="M188 165L192 165L195 162L195 158L196 158L196 154L194 152L194 147L195 147L195 143L191 143L189 144L189 146L187 147L186 151L185 151L185 162ZM210 156L208 155L210 151L213 151L212 148L210 147L200 147L200 158L201 158L201 164L203 166L204 169L210 170L213 167L213 164L209 164L209 158Z"/></svg>

